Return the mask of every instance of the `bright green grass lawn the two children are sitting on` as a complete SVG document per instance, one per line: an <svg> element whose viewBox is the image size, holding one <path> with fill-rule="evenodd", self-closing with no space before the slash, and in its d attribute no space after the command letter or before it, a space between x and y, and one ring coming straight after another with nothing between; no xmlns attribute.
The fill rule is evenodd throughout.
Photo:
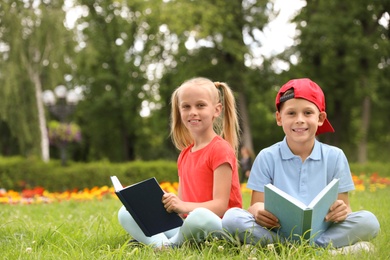
<svg viewBox="0 0 390 260"><path fill-rule="evenodd" d="M249 203L245 194L245 206ZM129 244L117 220L119 200L61 202L40 205L0 205L2 259L390 259L390 188L351 194L354 211L372 211L382 232L372 243L374 253L333 257L307 245L274 248L237 246L223 240L186 243L156 251Z"/></svg>

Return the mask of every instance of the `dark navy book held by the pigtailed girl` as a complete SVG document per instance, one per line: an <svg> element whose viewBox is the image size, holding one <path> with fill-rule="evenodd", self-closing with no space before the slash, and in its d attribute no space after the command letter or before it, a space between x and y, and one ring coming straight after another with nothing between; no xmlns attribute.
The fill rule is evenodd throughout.
<svg viewBox="0 0 390 260"><path fill-rule="evenodd" d="M123 188L116 176L111 176L115 193L138 226L148 237L180 227L183 220L168 213L162 203L164 191L156 178L150 178Z"/></svg>

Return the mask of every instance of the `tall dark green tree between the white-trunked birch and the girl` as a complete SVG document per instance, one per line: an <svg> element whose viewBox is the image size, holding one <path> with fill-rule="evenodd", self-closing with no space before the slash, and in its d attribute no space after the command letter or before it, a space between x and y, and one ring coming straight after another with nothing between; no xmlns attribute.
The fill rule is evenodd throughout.
<svg viewBox="0 0 390 260"><path fill-rule="evenodd" d="M158 40L153 1L81 0L75 78L85 87L79 125L91 159L136 159L142 102L153 94L148 60Z"/></svg>

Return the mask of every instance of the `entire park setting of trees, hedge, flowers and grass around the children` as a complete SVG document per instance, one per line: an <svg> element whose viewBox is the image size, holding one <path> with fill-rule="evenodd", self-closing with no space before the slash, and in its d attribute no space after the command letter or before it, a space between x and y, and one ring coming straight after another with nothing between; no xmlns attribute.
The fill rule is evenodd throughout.
<svg viewBox="0 0 390 260"><path fill-rule="evenodd" d="M286 9L287 30L270 37ZM129 243L109 176L125 185L155 176L176 192L170 95L204 76L234 90L241 144L254 154L283 138L274 119L279 87L317 82L336 130L318 138L350 161L352 209L381 223L377 250L359 259L388 259L389 10L388 0L0 1L1 256L355 259L305 244L206 241L156 252ZM74 103L45 103L57 86ZM242 193L247 207L245 183Z"/></svg>

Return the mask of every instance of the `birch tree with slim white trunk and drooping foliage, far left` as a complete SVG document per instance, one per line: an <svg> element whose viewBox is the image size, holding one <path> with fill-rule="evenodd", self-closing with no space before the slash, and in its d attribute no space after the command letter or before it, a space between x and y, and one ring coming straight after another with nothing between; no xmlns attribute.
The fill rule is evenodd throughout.
<svg viewBox="0 0 390 260"><path fill-rule="evenodd" d="M69 60L69 33L63 1L4 1L0 12L0 116L23 154L49 160L43 88L63 80ZM62 74L62 75L61 75Z"/></svg>

